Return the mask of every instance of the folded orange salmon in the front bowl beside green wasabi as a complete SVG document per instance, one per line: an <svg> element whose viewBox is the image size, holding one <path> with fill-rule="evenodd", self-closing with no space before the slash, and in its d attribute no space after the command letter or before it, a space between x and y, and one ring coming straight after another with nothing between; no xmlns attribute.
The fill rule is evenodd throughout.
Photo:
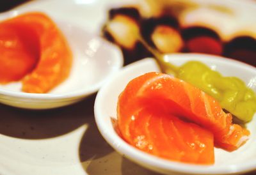
<svg viewBox="0 0 256 175"><path fill-rule="evenodd" d="M118 98L117 116L120 133L129 144L154 155L166 150L163 153L166 156L159 156L195 164L214 162L211 145L213 140L216 146L232 151L243 145L250 135L245 128L232 124L231 114L226 114L214 98L164 73L146 73L131 80ZM166 123L169 125L166 126ZM174 131L179 135L179 139L170 142L168 149L167 140L173 138ZM158 137L160 139L157 142ZM186 139L191 140L189 142ZM191 142L193 144L189 144ZM198 143L199 148L204 145L206 149L195 150L193 147L185 149L180 145L176 146L191 146L195 143ZM145 144L147 146L140 147ZM169 154L173 157L168 156L168 151L171 151ZM191 154L189 158L192 160L182 157L179 153Z"/></svg>

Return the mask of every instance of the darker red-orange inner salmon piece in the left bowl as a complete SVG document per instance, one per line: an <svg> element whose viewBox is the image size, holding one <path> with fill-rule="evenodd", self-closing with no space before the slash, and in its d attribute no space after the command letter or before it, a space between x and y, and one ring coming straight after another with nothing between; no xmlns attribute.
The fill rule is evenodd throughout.
<svg viewBox="0 0 256 175"><path fill-rule="evenodd" d="M38 41L28 30L15 30L0 23L0 53L0 83L18 81L35 68Z"/></svg>

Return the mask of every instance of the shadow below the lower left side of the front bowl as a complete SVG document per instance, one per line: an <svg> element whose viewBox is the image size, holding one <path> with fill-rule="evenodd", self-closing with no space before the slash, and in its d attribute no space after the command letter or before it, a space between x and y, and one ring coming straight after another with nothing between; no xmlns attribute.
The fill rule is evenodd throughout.
<svg viewBox="0 0 256 175"><path fill-rule="evenodd" d="M90 123L81 139L79 158L88 175L157 175L118 154L100 135L95 122Z"/></svg>

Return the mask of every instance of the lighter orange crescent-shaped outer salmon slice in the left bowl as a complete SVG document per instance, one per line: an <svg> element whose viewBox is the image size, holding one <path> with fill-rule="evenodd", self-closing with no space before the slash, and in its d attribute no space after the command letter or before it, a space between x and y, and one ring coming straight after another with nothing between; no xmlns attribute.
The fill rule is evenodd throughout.
<svg viewBox="0 0 256 175"><path fill-rule="evenodd" d="M72 53L56 24L44 13L31 12L2 22L17 31L30 31L27 40L38 38L39 61L35 69L22 79L22 91L47 93L63 82L72 65Z"/></svg>

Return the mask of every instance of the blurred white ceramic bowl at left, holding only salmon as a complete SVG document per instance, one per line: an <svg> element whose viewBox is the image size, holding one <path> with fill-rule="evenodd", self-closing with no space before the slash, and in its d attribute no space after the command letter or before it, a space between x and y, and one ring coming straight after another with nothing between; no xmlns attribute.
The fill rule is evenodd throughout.
<svg viewBox="0 0 256 175"><path fill-rule="evenodd" d="M1 20L22 12L4 13ZM45 94L23 93L20 91L21 82L0 85L1 103L24 109L51 109L69 105L98 91L123 65L122 52L115 45L60 16L51 18L67 38L72 50L73 63L68 79Z"/></svg>

